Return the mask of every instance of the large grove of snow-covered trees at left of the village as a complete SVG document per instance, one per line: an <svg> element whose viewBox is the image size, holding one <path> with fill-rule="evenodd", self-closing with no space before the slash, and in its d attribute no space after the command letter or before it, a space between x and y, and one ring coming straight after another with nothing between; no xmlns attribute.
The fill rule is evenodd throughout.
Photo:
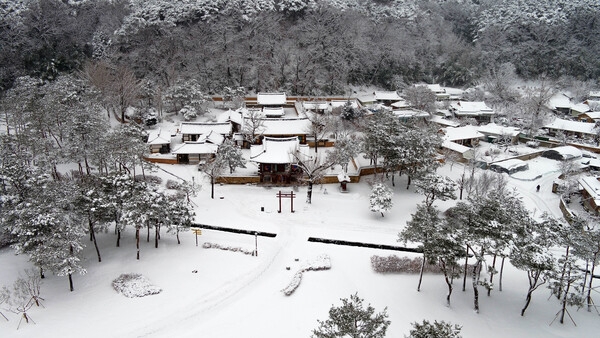
<svg viewBox="0 0 600 338"><path fill-rule="evenodd" d="M178 233L193 211L190 188L165 192L147 182L144 131L111 128L98 96L72 75L54 81L22 77L2 100L0 231L40 268L67 276L85 273L81 254L90 236L114 225L117 246L125 226ZM76 165L60 170L61 165ZM137 171L141 169L141 175ZM139 258L139 250L138 250Z"/></svg>

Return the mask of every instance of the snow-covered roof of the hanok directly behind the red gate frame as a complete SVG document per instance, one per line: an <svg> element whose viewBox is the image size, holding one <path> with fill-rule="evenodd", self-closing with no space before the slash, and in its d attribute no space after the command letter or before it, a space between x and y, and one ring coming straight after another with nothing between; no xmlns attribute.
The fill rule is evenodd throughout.
<svg viewBox="0 0 600 338"><path fill-rule="evenodd" d="M262 144L250 147L250 160L257 163L296 163L294 154L308 157L308 146L301 145L297 137L265 137Z"/></svg>

